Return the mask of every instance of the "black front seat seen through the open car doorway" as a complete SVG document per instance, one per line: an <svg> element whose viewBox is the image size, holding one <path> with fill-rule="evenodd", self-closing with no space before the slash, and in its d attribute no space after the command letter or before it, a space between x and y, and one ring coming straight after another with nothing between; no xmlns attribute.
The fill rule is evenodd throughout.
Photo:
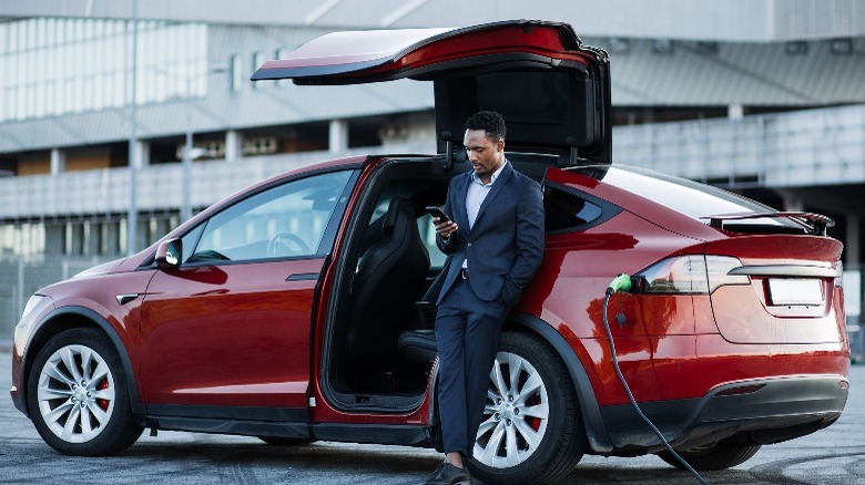
<svg viewBox="0 0 865 485"><path fill-rule="evenodd" d="M396 359L397 338L415 319L415 301L429 271L409 198L390 200L380 235L360 256L352 283L348 354L365 364Z"/></svg>

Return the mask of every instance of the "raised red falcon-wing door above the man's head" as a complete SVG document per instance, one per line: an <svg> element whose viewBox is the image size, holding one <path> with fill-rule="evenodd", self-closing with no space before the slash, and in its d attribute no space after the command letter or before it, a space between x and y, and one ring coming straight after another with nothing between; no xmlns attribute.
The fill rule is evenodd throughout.
<svg viewBox="0 0 865 485"><path fill-rule="evenodd" d="M610 66L567 23L515 20L459 29L336 32L286 59L264 63L257 80L359 84L432 81L438 151L462 143L479 110L501 113L508 149L560 155L560 165L611 162Z"/></svg>

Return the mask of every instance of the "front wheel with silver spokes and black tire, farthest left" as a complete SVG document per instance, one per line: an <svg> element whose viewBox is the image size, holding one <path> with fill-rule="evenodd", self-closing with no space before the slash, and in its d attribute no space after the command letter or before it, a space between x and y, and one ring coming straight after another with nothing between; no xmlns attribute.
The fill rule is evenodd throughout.
<svg viewBox="0 0 865 485"><path fill-rule="evenodd" d="M113 455L144 431L132 414L120 358L100 330L72 329L49 340L27 389L37 431L65 455Z"/></svg>

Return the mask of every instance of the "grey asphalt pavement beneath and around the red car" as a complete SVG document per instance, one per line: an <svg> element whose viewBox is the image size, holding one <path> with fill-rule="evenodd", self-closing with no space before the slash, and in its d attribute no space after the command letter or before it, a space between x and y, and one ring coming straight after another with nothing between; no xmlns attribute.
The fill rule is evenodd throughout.
<svg viewBox="0 0 865 485"><path fill-rule="evenodd" d="M9 398L11 355L0 350L0 483L35 484L423 484L440 455L405 446L317 442L269 446L257 438L145 431L114 457L58 454ZM753 458L710 484L865 485L865 365L851 370L851 394L838 422L785 443L764 446ZM696 483L655 456L586 456L566 484Z"/></svg>

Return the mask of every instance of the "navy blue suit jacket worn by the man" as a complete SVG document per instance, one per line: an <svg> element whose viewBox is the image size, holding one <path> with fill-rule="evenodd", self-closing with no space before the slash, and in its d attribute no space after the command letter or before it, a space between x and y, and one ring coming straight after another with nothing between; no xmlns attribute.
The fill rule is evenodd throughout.
<svg viewBox="0 0 865 485"><path fill-rule="evenodd" d="M437 303L441 302L459 277L468 258L469 282L478 297L517 303L543 259L543 197L537 182L515 171L510 162L492 184L480 205L475 226L469 230L466 195L471 171L450 180L445 214L457 223L457 231L447 241L436 242L452 255Z"/></svg>

